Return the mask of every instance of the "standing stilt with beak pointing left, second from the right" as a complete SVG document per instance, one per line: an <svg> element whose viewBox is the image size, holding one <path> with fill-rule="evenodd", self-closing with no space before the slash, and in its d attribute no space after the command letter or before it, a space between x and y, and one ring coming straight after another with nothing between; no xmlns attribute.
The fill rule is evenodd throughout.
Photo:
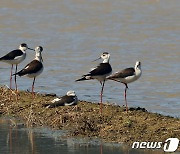
<svg viewBox="0 0 180 154"><path fill-rule="evenodd" d="M82 78L77 79L76 81L96 79L100 82L101 84L100 112L102 113L102 95L103 95L104 84L106 81L106 77L112 73L112 68L111 65L109 64L110 54L108 52L103 52L98 59L103 59L103 62L100 63L97 67L92 68L88 74L83 75Z"/></svg>

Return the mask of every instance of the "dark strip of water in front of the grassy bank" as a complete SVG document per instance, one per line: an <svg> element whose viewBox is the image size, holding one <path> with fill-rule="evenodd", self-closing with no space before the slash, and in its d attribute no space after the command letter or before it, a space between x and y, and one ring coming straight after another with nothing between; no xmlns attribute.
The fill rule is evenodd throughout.
<svg viewBox="0 0 180 154"><path fill-rule="evenodd" d="M133 150L120 144L102 143L98 139L64 139L62 131L25 128L13 125L12 119L0 118L0 153L2 154L159 154L162 151Z"/></svg>

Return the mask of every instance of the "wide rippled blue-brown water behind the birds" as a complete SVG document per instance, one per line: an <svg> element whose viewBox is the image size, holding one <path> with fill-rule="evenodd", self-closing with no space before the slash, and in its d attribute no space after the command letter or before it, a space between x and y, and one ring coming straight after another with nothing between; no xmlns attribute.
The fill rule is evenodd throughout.
<svg viewBox="0 0 180 154"><path fill-rule="evenodd" d="M0 55L26 42L44 47L45 69L35 90L99 101L97 81L75 79L97 65L103 51L114 71L142 62L142 77L129 84L128 105L180 117L179 0L1 0ZM19 69L34 57L28 56ZM10 66L0 64L0 83L9 85ZM18 78L19 89L32 80ZM103 100L124 104L124 85L106 82Z"/></svg>

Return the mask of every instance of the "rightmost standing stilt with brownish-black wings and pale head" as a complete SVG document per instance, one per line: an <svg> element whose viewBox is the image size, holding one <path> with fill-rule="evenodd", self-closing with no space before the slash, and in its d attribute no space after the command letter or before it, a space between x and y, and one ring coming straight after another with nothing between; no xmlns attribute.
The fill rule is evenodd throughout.
<svg viewBox="0 0 180 154"><path fill-rule="evenodd" d="M127 84L139 79L141 74L142 74L141 62L137 61L134 68L133 67L126 68L126 69L116 72L106 78L108 80L114 80L117 82L121 82L126 86L125 90L124 90L124 98L125 98L127 112L128 112L127 99L126 99L126 91L128 89Z"/></svg>

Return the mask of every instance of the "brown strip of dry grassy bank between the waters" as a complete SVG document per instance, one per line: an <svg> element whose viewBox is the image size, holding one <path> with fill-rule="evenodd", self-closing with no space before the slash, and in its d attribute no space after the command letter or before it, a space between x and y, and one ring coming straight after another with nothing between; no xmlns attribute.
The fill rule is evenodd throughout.
<svg viewBox="0 0 180 154"><path fill-rule="evenodd" d="M31 127L68 130L71 137L95 137L127 145L180 139L179 118L150 113L144 108L130 108L126 113L124 107L104 103L100 115L99 105L86 101L79 101L77 106L43 107L55 94L36 94L33 100L30 92L19 91L18 98L16 101L15 91L0 87L0 116L22 119Z"/></svg>

